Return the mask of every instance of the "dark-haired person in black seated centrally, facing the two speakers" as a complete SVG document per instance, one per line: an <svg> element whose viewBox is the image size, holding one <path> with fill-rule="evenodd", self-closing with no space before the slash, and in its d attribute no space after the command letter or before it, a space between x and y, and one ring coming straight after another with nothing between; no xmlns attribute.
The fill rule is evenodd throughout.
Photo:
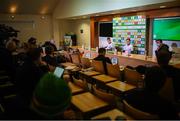
<svg viewBox="0 0 180 121"><path fill-rule="evenodd" d="M98 56L96 58L94 58L94 60L98 60L98 61L102 61L103 62L105 74L107 74L106 63L110 63L110 64L112 64L112 63L111 63L111 60L108 57L105 57L105 54L106 54L106 49L99 48Z"/></svg>

